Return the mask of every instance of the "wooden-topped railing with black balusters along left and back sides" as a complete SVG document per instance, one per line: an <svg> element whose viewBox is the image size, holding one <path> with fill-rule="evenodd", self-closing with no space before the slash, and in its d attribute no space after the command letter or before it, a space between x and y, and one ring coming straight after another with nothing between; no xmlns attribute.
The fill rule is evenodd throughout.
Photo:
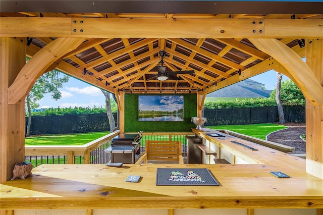
<svg viewBox="0 0 323 215"><path fill-rule="evenodd" d="M105 164L110 162L111 154L104 153L104 149L111 146L111 140L119 135L119 131L107 134L84 145L51 145L25 146L25 160L36 167L40 164ZM186 154L186 136L192 132L158 132L143 133L141 140L144 147L145 140L173 140L182 141L182 152ZM144 151L144 148L143 148Z"/></svg>

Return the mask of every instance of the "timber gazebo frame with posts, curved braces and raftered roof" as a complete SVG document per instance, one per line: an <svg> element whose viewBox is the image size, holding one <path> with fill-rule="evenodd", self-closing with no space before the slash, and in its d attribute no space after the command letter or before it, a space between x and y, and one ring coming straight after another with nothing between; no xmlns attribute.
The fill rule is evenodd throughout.
<svg viewBox="0 0 323 215"><path fill-rule="evenodd" d="M125 132L127 95L194 94L200 117L207 93L281 72L306 98L306 173L323 179L322 11L299 1L2 0L0 182L24 160L25 97L54 68L114 93Z"/></svg>

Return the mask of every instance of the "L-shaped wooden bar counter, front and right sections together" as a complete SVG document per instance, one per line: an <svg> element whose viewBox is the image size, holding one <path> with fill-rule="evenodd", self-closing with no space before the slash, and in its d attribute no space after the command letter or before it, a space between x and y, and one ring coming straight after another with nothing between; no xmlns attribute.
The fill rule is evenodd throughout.
<svg viewBox="0 0 323 215"><path fill-rule="evenodd" d="M217 211L207 214L222 214L218 210L223 208L229 210L225 214L323 214L323 180L305 172L305 159L228 134L222 133L225 136L222 139L206 135L217 132L214 130L192 130L204 142L208 141L206 145L214 144L248 164L124 164L121 168L40 165L32 170L33 176L0 185L1 209L15 210L15 214L17 210L18 215L33 209L45 209L43 214L61 214L49 213L48 209L67 210L65 214L71 214L71 209L86 209L83 214L154 215L192 215L201 214L196 210L210 209ZM220 186L156 186L157 168L208 169ZM290 178L277 178L270 173L273 171ZM130 175L141 176L141 179L138 183L126 182ZM143 211L136 212L138 208ZM259 211L264 209L272 211ZM238 210L242 212L237 213ZM76 211L75 214L81 213Z"/></svg>

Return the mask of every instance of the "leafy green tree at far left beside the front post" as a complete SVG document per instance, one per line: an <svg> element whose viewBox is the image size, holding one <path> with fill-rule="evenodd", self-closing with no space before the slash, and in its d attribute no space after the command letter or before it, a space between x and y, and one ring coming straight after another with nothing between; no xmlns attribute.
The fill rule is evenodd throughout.
<svg viewBox="0 0 323 215"><path fill-rule="evenodd" d="M60 77L60 72L58 70L52 70L40 76L29 94L26 97L26 105L28 110L28 124L26 136L30 135L31 126L31 109L39 107L37 101L44 97L45 93L51 93L50 97L58 100L62 97L59 88L63 87L63 83L69 81L69 76L63 75Z"/></svg>

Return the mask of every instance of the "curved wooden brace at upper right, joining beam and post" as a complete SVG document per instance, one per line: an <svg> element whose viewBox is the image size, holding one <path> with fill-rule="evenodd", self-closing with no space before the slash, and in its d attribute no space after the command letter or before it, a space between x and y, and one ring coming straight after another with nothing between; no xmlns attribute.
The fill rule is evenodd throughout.
<svg viewBox="0 0 323 215"><path fill-rule="evenodd" d="M250 41L260 50L281 63L297 81L304 96L313 104L323 104L323 87L305 62L284 43L277 39L254 39ZM321 59L320 59L321 61Z"/></svg>

